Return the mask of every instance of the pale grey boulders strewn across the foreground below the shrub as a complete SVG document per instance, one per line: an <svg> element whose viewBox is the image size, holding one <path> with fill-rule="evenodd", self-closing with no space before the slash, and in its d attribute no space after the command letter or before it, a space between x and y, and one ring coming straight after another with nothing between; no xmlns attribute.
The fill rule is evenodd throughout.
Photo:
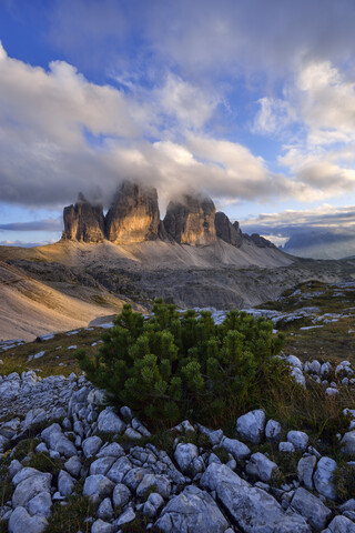
<svg viewBox="0 0 355 533"><path fill-rule="evenodd" d="M49 383L54 390L52 401ZM44 400L38 406L36 390L41 386L47 408ZM31 454L21 462L12 459L13 494L0 510L10 533L45 531L52 505L67 505L78 482L83 495L97 504L95 515L88 517L92 533L120 532L140 515L145 516L148 531L155 526L164 533L355 532L355 501L336 504L336 462L310 446L306 433L285 434L262 410L240 416L232 439L222 430L184 421L171 430L175 440L169 455L146 443L150 432L129 408L122 408L120 415L103 409L104 394L83 376L40 380L34 372L21 378L12 374L1 379L0 388L12 400L19 391L28 394L27 413L23 404L22 416L0 424L2 449L12 450L10 459L27 430L41 422L36 452L62 465L59 475L52 475L28 465ZM60 423L53 422L59 418ZM199 432L209 445L189 442L197 442ZM113 440L119 435L124 435L122 445ZM143 438L145 444L140 445ZM272 442L280 454L298 453L291 481L280 484L276 462L255 451L265 442ZM349 430L342 443L345 454L355 453L355 431Z"/></svg>

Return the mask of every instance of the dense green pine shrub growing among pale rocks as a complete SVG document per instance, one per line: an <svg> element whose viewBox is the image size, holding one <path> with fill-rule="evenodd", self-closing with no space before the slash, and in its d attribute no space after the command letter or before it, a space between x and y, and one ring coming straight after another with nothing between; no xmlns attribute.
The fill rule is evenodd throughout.
<svg viewBox="0 0 355 533"><path fill-rule="evenodd" d="M284 343L273 324L231 311L216 325L207 311L181 315L158 300L148 320L124 305L91 359L77 352L89 380L115 406L129 405L155 423L184 418L226 420L283 386L290 378L277 358Z"/></svg>

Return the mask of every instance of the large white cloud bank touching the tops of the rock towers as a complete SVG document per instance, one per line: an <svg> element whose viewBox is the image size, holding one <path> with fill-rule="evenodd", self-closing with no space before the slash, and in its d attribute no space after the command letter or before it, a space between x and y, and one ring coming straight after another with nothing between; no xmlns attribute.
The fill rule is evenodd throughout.
<svg viewBox="0 0 355 533"><path fill-rule="evenodd" d="M225 200L304 195L247 148L205 133L220 100L175 74L129 93L90 83L72 66L48 71L0 49L0 198L60 205L78 191L108 200L123 178L162 198L186 188Z"/></svg>

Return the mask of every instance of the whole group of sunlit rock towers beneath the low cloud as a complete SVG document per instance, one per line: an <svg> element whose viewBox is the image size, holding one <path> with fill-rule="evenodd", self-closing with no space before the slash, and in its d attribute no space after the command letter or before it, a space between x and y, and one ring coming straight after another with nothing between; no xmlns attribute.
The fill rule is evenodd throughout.
<svg viewBox="0 0 355 533"><path fill-rule="evenodd" d="M243 234L239 222L216 213L211 198L201 194L182 194L171 201L160 220L156 189L130 181L123 181L105 215L101 204L92 204L80 193L74 205L64 208L63 219L63 240L133 244L160 239L207 245L222 239L236 248L243 240L258 248L275 248L257 234Z"/></svg>

